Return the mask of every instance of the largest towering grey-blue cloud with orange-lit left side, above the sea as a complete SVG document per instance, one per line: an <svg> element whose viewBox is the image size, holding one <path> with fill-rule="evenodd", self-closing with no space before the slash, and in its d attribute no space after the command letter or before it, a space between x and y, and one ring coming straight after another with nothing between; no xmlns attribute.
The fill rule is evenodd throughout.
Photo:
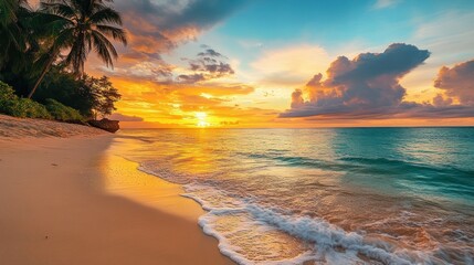
<svg viewBox="0 0 474 265"><path fill-rule="evenodd" d="M339 56L326 71L325 81L317 74L304 91L293 93L292 109L282 116L376 114L382 107L398 106L405 95L400 78L429 56L425 50L401 43L391 44L383 53L362 53L354 60Z"/></svg>

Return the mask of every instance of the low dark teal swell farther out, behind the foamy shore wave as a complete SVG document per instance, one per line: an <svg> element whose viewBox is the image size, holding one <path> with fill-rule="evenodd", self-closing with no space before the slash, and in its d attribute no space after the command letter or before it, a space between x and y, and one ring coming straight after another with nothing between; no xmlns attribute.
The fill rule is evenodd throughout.
<svg viewBox="0 0 474 265"><path fill-rule="evenodd" d="M335 160L315 159L309 157L274 156L271 153L244 153L252 159L275 161L275 166L317 168L367 177L391 178L404 183L431 187L431 192L474 198L474 171L452 166L424 165L387 158L341 157ZM403 184L405 188L418 188ZM428 192L428 190L425 190ZM423 192L423 191L422 191Z"/></svg>

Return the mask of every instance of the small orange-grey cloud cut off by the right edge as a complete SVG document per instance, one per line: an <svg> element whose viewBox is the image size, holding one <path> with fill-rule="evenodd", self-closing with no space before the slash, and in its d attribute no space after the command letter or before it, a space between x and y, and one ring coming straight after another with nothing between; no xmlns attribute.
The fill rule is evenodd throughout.
<svg viewBox="0 0 474 265"><path fill-rule="evenodd" d="M474 60L456 64L452 68L443 66L434 86L463 105L474 105Z"/></svg>

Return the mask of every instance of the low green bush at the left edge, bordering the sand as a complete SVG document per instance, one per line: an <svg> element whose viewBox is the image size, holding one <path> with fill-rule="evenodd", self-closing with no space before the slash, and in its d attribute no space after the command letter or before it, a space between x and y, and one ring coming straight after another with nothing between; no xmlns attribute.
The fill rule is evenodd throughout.
<svg viewBox="0 0 474 265"><path fill-rule="evenodd" d="M0 82L0 113L21 118L51 119L43 105L28 98L18 98L13 88L3 82Z"/></svg>

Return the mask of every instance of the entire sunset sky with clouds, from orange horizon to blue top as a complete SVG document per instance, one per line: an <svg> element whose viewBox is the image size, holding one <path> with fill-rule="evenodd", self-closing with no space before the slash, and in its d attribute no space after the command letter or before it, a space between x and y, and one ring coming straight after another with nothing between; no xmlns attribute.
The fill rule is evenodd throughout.
<svg viewBox="0 0 474 265"><path fill-rule="evenodd" d="M474 1L115 0L123 127L474 125Z"/></svg>

